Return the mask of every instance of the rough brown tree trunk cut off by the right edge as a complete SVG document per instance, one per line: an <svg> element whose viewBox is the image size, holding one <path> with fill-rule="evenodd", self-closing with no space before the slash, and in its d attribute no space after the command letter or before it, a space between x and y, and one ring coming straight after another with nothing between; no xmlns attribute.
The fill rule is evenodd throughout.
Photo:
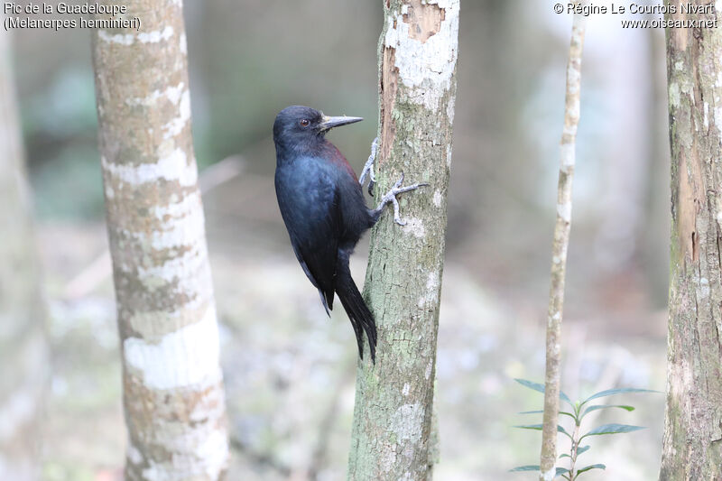
<svg viewBox="0 0 722 481"><path fill-rule="evenodd" d="M685 18L680 0L670 5L677 14L668 19ZM672 225L661 480L722 478L720 59L717 28L667 29Z"/></svg>

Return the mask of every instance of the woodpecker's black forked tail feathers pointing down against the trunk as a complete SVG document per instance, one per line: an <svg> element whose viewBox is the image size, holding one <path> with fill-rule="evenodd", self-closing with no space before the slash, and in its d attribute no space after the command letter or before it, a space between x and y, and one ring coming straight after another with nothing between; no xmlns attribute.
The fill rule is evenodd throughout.
<svg viewBox="0 0 722 481"><path fill-rule="evenodd" d="M348 319L351 320L351 325L356 333L358 355L362 359L364 358L363 328L363 331L366 332L366 338L368 338L371 360L375 363L376 323L374 315L368 309L368 306L366 306L366 301L364 301L364 298L361 296L361 292L359 292L356 287L356 282L354 282L354 279L351 277L347 259L339 259L336 275L336 292L338 293L338 299L341 300L341 304L344 306L344 310L346 310Z"/></svg>

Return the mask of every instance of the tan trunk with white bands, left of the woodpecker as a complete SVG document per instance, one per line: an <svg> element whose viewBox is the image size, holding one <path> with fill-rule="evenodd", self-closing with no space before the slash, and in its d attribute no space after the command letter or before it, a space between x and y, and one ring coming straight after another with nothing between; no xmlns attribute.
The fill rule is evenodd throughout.
<svg viewBox="0 0 722 481"><path fill-rule="evenodd" d="M182 2L123 4L142 31L97 30L93 60L123 353L125 478L218 480L227 421Z"/></svg>

